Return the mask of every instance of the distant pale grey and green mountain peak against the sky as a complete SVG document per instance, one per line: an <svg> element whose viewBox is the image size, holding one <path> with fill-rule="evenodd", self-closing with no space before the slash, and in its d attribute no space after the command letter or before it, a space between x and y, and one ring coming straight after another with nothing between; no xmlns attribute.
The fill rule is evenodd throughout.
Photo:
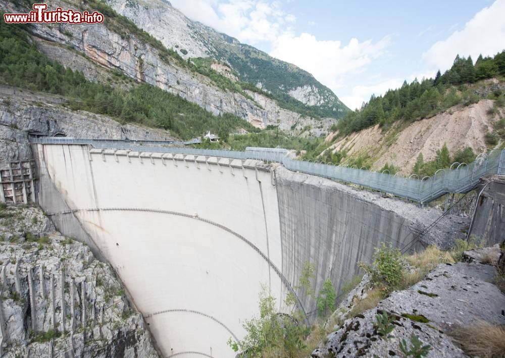
<svg viewBox="0 0 505 358"><path fill-rule="evenodd" d="M288 94L304 104L325 108L327 115L333 117L340 117L347 110L337 96L311 74L191 21L167 1L107 0L107 3L184 58L210 56L226 62L239 73L242 81L261 83L270 93Z"/></svg>

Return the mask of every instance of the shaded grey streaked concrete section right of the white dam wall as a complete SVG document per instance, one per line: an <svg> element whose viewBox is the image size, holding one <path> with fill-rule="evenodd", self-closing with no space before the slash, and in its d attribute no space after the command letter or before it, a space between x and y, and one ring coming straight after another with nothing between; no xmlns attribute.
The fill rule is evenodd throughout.
<svg viewBox="0 0 505 358"><path fill-rule="evenodd" d="M326 278L331 278L339 291L359 272L358 262L370 262L374 248L382 242L398 248L412 245L410 250L420 248L416 234L423 226L382 207L377 196L360 196L333 181L283 167L276 170L276 176L282 272L294 285L306 262L316 268L316 292ZM302 294L307 313L314 317L314 300Z"/></svg>

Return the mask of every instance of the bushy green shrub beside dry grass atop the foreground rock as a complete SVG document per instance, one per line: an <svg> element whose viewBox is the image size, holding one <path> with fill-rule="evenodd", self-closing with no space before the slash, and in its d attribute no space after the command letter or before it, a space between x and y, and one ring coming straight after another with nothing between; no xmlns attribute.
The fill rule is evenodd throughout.
<svg viewBox="0 0 505 358"><path fill-rule="evenodd" d="M382 243L380 248L375 248L374 261L371 265L359 263L370 276L370 283L374 287L386 286L388 290L394 289L400 283L402 276L401 253L392 244Z"/></svg>

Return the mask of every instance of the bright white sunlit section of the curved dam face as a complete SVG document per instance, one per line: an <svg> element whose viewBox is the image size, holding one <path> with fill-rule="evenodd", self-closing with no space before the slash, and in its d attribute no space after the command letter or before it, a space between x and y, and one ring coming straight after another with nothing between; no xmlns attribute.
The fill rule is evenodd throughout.
<svg viewBox="0 0 505 358"><path fill-rule="evenodd" d="M83 146L45 145L37 152L47 168L41 192L52 183L73 213L45 195L41 206L60 223L75 216L164 355L234 356L226 341L243 336L243 321L258 312L261 286L282 303L289 287L279 275L271 171L255 162L242 168L227 159L218 165L215 158L207 164L205 158L102 155Z"/></svg>

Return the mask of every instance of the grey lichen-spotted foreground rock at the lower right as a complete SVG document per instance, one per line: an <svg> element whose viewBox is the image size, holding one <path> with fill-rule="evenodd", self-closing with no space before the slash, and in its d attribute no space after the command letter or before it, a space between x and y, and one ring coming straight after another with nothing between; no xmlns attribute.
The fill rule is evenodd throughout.
<svg viewBox="0 0 505 358"><path fill-rule="evenodd" d="M429 357L466 356L445 332L479 321L505 324L505 294L489 283L494 274L492 266L478 262L438 265L409 289L394 291L376 308L346 320L312 357L402 356L399 343L409 344L413 335L430 345ZM376 315L383 313L394 325L387 340L376 325Z"/></svg>

